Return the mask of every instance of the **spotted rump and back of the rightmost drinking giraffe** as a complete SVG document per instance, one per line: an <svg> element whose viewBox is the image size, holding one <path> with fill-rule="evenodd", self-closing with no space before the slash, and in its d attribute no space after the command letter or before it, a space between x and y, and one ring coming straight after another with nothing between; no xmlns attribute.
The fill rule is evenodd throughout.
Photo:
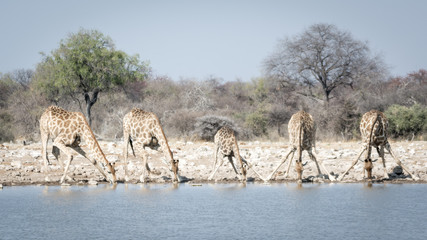
<svg viewBox="0 0 427 240"><path fill-rule="evenodd" d="M378 118L378 120L377 120ZM363 142L372 146L381 146L387 143L388 120L384 113L371 110L362 116L360 121L360 134Z"/></svg>

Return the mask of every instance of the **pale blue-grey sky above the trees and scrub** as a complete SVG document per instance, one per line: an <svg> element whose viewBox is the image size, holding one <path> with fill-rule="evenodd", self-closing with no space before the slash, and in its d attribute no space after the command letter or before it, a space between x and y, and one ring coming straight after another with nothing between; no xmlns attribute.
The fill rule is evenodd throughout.
<svg viewBox="0 0 427 240"><path fill-rule="evenodd" d="M279 39L315 23L367 41L392 75L427 68L423 0L0 0L0 72L35 69L39 52L85 28L139 54L155 75L250 81Z"/></svg>

